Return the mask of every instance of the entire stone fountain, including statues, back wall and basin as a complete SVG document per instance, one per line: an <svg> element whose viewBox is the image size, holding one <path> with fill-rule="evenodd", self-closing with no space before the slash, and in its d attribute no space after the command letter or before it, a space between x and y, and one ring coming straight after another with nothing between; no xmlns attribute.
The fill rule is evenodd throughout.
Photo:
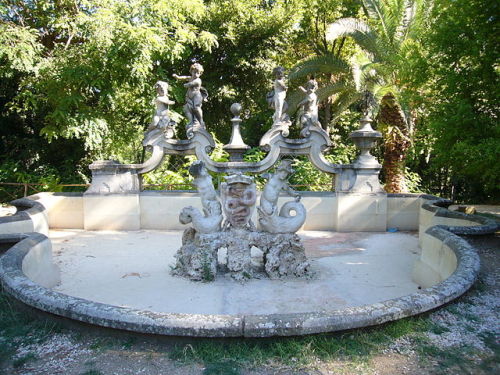
<svg viewBox="0 0 500 375"><path fill-rule="evenodd" d="M12 202L19 212L0 218L0 242L10 247L0 257L5 291L37 309L104 327L265 337L381 324L434 309L472 285L478 257L455 234L491 233L498 224L450 213L442 208L446 201L425 194L385 194L370 154L381 135L368 112L350 136L357 158L330 163L317 82L301 87L292 122L284 70L276 68L267 95L272 126L260 140L266 156L244 161L248 145L235 103L224 146L230 158L217 162L203 120L202 73L197 63L190 75L174 75L186 87L185 139L176 136L168 83L159 81L143 140L151 151L146 162L98 161L83 195L41 193ZM293 123L301 127L295 139ZM142 175L165 155L196 156L189 173L197 193L142 191ZM298 155L335 176L335 192L291 189L286 157ZM258 191L254 175L266 171ZM218 173L225 177L216 188L211 176ZM386 233L388 227L399 232Z"/></svg>

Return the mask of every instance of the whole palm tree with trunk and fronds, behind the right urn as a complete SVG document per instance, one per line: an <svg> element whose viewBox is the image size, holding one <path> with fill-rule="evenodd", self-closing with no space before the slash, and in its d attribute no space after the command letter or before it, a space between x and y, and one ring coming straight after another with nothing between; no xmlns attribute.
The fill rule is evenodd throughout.
<svg viewBox="0 0 500 375"><path fill-rule="evenodd" d="M419 39L432 0L362 2L367 22L342 18L330 24L327 31L328 41L351 37L362 51L351 60L352 84L344 83L344 97L339 96L338 107L342 109L349 101L359 99L364 91L375 97L378 130L384 135L385 190L402 193L407 191L405 160L414 127L409 100L412 56L420 50ZM320 62L319 58L313 58L299 64L298 75L310 71L314 60ZM337 66L338 62L333 65ZM325 70L321 67L317 72Z"/></svg>

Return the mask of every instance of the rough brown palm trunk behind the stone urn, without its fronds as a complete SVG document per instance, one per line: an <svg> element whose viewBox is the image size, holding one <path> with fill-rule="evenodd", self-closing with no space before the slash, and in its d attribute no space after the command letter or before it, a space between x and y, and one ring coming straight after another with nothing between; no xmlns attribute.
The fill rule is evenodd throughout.
<svg viewBox="0 0 500 375"><path fill-rule="evenodd" d="M406 193L405 161L410 148L410 134L405 118L396 98L386 94L380 103L378 130L384 135L385 191Z"/></svg>

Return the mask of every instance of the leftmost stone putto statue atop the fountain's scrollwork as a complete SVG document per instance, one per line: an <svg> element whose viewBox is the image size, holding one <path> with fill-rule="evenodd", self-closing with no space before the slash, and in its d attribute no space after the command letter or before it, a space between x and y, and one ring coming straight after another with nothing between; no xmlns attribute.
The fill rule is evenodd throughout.
<svg viewBox="0 0 500 375"><path fill-rule="evenodd" d="M148 140L164 135L165 138L173 138L175 135L175 121L170 118L169 106L174 104L168 97L168 83L158 81L155 84L157 93L155 99L155 114L153 120L146 130L145 142Z"/></svg>

